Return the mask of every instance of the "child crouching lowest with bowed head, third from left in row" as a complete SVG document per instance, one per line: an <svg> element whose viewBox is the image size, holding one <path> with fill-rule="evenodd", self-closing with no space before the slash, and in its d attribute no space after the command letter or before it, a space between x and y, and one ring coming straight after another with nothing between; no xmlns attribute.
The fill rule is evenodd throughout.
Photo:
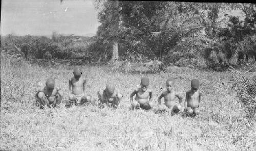
<svg viewBox="0 0 256 151"><path fill-rule="evenodd" d="M98 97L100 100L100 103L105 107L115 107L117 108L121 98L123 97L123 94L119 92L115 88L115 85L110 83L106 85L106 88L104 90L98 91Z"/></svg>

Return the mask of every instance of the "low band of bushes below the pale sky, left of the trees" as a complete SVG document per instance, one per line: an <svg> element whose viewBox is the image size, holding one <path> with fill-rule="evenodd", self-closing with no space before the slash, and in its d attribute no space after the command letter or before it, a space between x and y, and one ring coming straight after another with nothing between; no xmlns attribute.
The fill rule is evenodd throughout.
<svg viewBox="0 0 256 151"><path fill-rule="evenodd" d="M1 49L9 54L21 54L30 59L90 59L90 37L63 36L53 32L46 36L1 36Z"/></svg>

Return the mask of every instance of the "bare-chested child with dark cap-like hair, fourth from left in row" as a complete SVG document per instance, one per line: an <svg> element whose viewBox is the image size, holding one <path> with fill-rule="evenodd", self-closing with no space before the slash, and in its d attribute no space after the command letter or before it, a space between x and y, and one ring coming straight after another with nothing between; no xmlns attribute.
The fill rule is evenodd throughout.
<svg viewBox="0 0 256 151"><path fill-rule="evenodd" d="M140 88L137 88L130 95L130 100L132 104L132 109L142 108L144 110L150 110L153 107L152 100L152 91L147 89L150 85L150 79L142 78L140 82ZM134 99L134 95L136 97Z"/></svg>

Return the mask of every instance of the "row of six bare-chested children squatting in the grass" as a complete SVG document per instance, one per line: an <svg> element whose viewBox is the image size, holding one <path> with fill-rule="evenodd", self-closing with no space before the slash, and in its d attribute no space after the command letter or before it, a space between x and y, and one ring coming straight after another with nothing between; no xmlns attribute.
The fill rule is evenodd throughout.
<svg viewBox="0 0 256 151"><path fill-rule="evenodd" d="M69 101L66 103L66 107L69 108L72 105L82 105L87 102L92 102L92 96L86 94L86 79L81 78L81 67L76 66L73 71L74 77L69 79ZM142 78L140 87L135 89L130 95L130 101L132 109L144 109L150 110L154 104L152 102L152 90L148 89L150 80L148 78ZM181 111L182 95L174 90L175 80L169 78L166 81L166 91L162 92L158 97L158 103L160 105L159 110L169 110L172 114ZM115 85L110 83L106 85L104 90L97 92L100 104L102 107L115 107L117 108L123 94L120 93ZM36 104L40 108L46 106L51 108L61 103L63 98L63 91L55 87L55 80L49 78L46 81L46 86L41 88L36 93ZM134 98L135 96L135 98ZM202 93L199 91L199 81L191 80L191 89L186 92L184 111L189 115L199 114L199 104L201 101ZM164 98L164 104L162 98ZM179 99L179 103L176 103L176 98Z"/></svg>

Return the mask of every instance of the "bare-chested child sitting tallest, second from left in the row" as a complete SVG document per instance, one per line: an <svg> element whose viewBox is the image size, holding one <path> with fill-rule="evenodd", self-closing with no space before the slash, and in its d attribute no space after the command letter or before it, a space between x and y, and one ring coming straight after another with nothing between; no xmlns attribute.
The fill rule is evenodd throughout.
<svg viewBox="0 0 256 151"><path fill-rule="evenodd" d="M86 95L86 79L81 78L81 67L76 66L73 71L74 77L69 79L69 102L66 107L73 104L82 105L91 101L91 96Z"/></svg>

